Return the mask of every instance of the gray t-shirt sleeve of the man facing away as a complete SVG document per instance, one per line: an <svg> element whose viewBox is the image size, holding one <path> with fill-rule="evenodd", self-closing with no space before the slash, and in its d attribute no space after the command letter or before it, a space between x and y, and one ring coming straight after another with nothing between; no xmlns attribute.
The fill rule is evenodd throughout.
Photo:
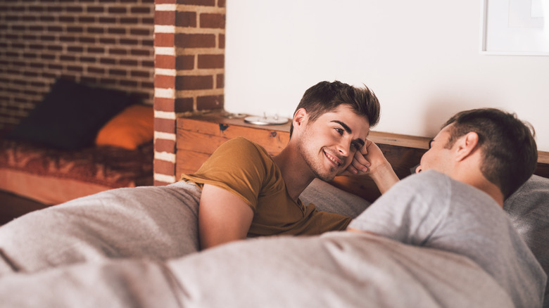
<svg viewBox="0 0 549 308"><path fill-rule="evenodd" d="M423 245L448 210L442 174L422 172L398 182L348 228L376 233L411 245Z"/></svg>

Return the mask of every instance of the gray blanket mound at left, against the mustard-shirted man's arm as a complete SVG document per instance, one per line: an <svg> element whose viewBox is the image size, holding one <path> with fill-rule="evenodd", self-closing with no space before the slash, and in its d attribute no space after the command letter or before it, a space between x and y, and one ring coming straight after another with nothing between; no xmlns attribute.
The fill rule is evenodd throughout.
<svg viewBox="0 0 549 308"><path fill-rule="evenodd" d="M196 252L200 193L184 182L118 188L27 214L1 227L0 263L5 264L0 275L104 258L170 259Z"/></svg>

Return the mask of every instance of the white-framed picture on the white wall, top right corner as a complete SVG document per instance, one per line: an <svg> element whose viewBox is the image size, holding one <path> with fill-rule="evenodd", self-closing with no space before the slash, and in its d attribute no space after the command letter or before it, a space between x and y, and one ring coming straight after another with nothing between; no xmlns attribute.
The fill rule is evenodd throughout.
<svg viewBox="0 0 549 308"><path fill-rule="evenodd" d="M549 56L549 0L481 4L481 54Z"/></svg>

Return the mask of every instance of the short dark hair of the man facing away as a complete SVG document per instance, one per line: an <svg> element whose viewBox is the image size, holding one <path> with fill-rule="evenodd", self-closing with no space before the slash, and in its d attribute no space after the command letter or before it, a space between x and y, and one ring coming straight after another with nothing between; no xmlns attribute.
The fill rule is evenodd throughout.
<svg viewBox="0 0 549 308"><path fill-rule="evenodd" d="M477 133L482 152L481 172L500 188L505 199L534 174L538 161L536 131L515 113L495 108L467 110L451 117L443 127L450 124L446 148L471 131Z"/></svg>

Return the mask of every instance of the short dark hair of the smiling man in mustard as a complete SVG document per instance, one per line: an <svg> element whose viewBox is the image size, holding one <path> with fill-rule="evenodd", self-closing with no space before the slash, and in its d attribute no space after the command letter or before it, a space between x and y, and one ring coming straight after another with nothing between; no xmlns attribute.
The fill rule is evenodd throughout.
<svg viewBox="0 0 549 308"><path fill-rule="evenodd" d="M358 88L339 81L319 82L307 89L294 115L297 110L304 108L309 120L314 122L320 115L329 113L342 104L350 106L357 115L367 117L370 127L379 122L380 107L374 92L367 86ZM290 136L293 131L294 124L291 124Z"/></svg>

